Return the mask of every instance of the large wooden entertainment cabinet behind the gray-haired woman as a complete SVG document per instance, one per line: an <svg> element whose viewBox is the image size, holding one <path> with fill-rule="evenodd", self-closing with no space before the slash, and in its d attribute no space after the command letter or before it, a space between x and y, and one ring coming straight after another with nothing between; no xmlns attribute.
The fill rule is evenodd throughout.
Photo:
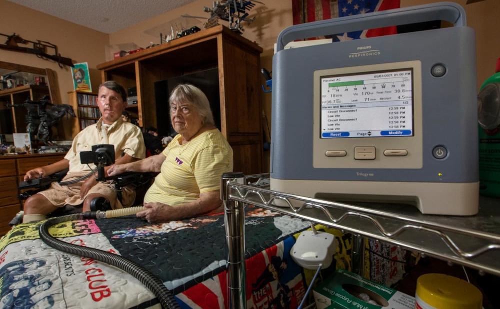
<svg viewBox="0 0 500 309"><path fill-rule="evenodd" d="M188 81L208 87L208 92L214 85L215 93L207 96L216 125L233 149L234 170L254 174L263 172L261 52L257 44L219 25L97 68L102 81L136 87L137 104L129 109L137 114L140 126L155 126L160 135L169 133L160 128L170 122L167 90L172 83Z"/></svg>

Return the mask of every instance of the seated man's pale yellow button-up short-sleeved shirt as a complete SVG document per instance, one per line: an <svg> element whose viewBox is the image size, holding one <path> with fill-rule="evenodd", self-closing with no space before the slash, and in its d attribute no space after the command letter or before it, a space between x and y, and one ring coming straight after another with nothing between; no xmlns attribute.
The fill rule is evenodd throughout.
<svg viewBox="0 0 500 309"><path fill-rule="evenodd" d="M71 144L71 149L66 153L64 159L69 161L69 173L90 171L86 164L80 163L80 151L90 151L93 145L103 144L105 139L101 131L102 118L96 124L92 124L78 133ZM140 128L129 122L123 122L121 117L113 122L107 129L107 144L114 145L115 158L122 154L130 157L143 159L145 156L144 141ZM91 168L95 165L89 164Z"/></svg>

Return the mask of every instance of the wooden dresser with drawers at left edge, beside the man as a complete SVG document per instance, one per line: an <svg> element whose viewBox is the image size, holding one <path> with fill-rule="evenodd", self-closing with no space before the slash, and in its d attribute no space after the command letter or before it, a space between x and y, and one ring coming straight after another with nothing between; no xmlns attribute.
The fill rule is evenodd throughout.
<svg viewBox="0 0 500 309"><path fill-rule="evenodd" d="M10 230L8 223L21 210L17 189L22 176L32 168L57 162L63 153L0 156L0 236Z"/></svg>

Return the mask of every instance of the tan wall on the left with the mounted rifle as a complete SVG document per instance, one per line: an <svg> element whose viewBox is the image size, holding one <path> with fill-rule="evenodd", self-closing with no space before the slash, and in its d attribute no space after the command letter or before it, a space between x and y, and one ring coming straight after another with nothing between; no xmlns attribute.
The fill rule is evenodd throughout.
<svg viewBox="0 0 500 309"><path fill-rule="evenodd" d="M108 34L77 25L60 18L32 10L5 0L0 0L0 32L19 34L21 37L36 41L48 41L57 45L59 53L74 62L88 62L92 90L100 83L100 72L95 69L104 62L104 46L108 43ZM0 40L4 42L5 37ZM35 55L1 50L1 61L50 68L55 71L62 103L68 103L68 91L73 90L73 81L69 67L59 68L56 62L43 60Z"/></svg>

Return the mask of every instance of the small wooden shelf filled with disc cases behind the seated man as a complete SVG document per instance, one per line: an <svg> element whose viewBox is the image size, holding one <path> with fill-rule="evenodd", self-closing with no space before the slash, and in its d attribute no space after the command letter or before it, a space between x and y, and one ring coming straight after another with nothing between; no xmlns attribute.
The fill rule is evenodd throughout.
<svg viewBox="0 0 500 309"><path fill-rule="evenodd" d="M97 106L97 93L69 91L69 105L73 107L76 117L73 120L71 136L74 138L85 127L94 124L100 118Z"/></svg>

